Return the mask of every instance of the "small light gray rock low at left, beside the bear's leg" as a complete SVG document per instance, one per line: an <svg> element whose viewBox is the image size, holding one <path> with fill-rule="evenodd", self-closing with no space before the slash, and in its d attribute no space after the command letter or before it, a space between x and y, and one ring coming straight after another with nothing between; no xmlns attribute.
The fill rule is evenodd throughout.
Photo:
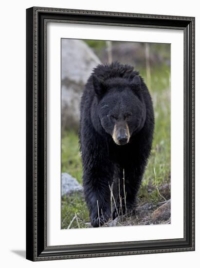
<svg viewBox="0 0 200 268"><path fill-rule="evenodd" d="M83 187L68 173L61 174L61 194L69 195L73 192L82 192Z"/></svg>

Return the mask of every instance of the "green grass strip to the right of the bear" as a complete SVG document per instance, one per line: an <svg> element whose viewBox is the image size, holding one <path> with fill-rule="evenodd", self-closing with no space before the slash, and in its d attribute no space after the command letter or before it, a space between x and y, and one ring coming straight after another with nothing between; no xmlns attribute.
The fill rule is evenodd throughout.
<svg viewBox="0 0 200 268"><path fill-rule="evenodd" d="M157 190L148 193L149 185L170 184L170 69L168 66L151 70L151 96L155 112L155 130L151 156L143 178L139 196L149 202L163 201ZM145 72L141 71L145 78ZM147 81L146 81L147 83ZM147 83L148 85L148 83ZM153 86L152 86L153 85ZM155 169L155 173L154 173ZM156 177L156 181L155 181ZM145 198L144 198L145 197Z"/></svg>

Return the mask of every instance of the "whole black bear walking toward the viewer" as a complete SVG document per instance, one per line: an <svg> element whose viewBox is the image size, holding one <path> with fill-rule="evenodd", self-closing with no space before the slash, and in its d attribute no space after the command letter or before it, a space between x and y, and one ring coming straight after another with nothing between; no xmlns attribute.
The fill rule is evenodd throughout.
<svg viewBox="0 0 200 268"><path fill-rule="evenodd" d="M99 227L109 220L111 211L115 218L134 209L151 151L153 105L139 72L114 62L93 69L80 112L83 188L91 225ZM112 210L110 194L114 195Z"/></svg>

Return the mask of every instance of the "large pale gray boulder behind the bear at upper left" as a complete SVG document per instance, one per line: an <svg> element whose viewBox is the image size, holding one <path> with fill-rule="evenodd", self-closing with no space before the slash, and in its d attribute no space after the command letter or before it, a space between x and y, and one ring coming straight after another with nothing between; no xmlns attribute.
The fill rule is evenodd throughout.
<svg viewBox="0 0 200 268"><path fill-rule="evenodd" d="M91 71L100 60L82 40L61 42L61 125L77 130L80 119L80 97Z"/></svg>

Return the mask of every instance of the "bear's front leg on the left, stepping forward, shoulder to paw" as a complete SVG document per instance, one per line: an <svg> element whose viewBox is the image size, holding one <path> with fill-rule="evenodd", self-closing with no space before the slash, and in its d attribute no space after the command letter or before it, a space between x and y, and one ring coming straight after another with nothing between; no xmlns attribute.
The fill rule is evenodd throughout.
<svg viewBox="0 0 200 268"><path fill-rule="evenodd" d="M111 216L109 185L113 181L114 165L109 158L106 137L94 130L89 119L90 116L83 122L80 133L83 189L91 225L100 227Z"/></svg>

